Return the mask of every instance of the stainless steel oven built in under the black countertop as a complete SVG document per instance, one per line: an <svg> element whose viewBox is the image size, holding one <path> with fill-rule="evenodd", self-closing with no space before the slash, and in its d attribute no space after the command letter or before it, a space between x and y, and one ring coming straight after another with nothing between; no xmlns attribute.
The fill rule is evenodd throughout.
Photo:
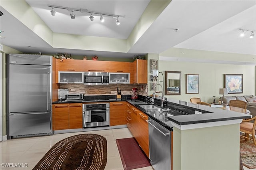
<svg viewBox="0 0 256 170"><path fill-rule="evenodd" d="M83 128L109 126L109 103L83 104Z"/></svg>

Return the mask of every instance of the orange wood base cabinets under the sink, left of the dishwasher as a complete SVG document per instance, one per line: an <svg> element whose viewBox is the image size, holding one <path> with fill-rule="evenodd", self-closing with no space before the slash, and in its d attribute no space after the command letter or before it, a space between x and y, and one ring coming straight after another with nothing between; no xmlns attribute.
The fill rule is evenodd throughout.
<svg viewBox="0 0 256 170"><path fill-rule="evenodd" d="M149 157L149 136L148 136L148 116L140 109L132 106L130 103L126 105L126 123L132 135L138 144Z"/></svg>

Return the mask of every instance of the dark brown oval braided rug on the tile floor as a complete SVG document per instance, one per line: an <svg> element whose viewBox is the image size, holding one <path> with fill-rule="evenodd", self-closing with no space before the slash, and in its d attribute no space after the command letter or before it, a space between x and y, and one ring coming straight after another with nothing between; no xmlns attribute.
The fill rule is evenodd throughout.
<svg viewBox="0 0 256 170"><path fill-rule="evenodd" d="M78 134L54 144L33 170L103 170L106 163L106 138Z"/></svg>

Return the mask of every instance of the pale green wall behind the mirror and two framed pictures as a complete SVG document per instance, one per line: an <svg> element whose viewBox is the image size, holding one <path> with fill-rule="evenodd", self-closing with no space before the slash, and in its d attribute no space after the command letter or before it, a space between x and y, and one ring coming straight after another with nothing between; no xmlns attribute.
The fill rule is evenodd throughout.
<svg viewBox="0 0 256 170"><path fill-rule="evenodd" d="M190 101L191 97L199 97L207 103L218 100L219 89L224 88L224 74L243 74L243 93L232 95L255 95L255 66L215 63L196 63L179 61L159 61L159 71L181 71L181 95L166 95L165 97ZM199 94L186 94L186 74L199 74Z"/></svg>

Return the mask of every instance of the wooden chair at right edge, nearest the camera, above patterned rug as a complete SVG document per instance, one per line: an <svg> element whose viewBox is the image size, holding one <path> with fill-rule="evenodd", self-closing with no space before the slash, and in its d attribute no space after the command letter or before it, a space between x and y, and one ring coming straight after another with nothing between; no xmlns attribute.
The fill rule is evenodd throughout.
<svg viewBox="0 0 256 170"><path fill-rule="evenodd" d="M250 122L254 120L254 123ZM256 138L255 138L255 127L256 127L256 116L251 118L251 119L247 119L247 120L243 120L242 123L240 123L240 132L244 132L244 136L240 135L242 137L246 139L250 139L253 140L254 144L256 145ZM249 138L249 135L252 135L252 138Z"/></svg>

